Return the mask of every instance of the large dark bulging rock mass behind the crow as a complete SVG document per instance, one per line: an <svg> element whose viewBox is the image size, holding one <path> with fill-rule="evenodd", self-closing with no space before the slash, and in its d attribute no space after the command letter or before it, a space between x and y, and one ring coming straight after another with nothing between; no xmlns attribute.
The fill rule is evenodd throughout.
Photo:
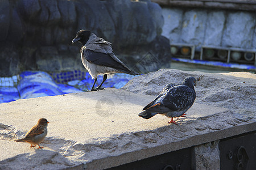
<svg viewBox="0 0 256 170"><path fill-rule="evenodd" d="M0 16L0 76L20 70L83 69L77 61L80 45L71 45L80 29L112 42L117 54L129 55L139 46L139 52L147 51L143 46L153 41L169 45L159 40L162 9L148 0L3 0ZM158 57L155 46L151 49Z"/></svg>

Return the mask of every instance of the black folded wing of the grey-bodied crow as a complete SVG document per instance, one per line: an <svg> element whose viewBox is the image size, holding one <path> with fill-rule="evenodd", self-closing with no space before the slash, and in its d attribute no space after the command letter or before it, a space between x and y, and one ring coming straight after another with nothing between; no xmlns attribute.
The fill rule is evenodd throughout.
<svg viewBox="0 0 256 170"><path fill-rule="evenodd" d="M112 67L122 73L134 75L133 71L128 69L124 63L122 63L121 61L119 61L119 62L116 61L108 53L100 53L100 52L94 52L93 50L84 49L82 51L82 55L85 57L86 61L88 61L90 63L94 63L94 64L100 65L100 66Z"/></svg>

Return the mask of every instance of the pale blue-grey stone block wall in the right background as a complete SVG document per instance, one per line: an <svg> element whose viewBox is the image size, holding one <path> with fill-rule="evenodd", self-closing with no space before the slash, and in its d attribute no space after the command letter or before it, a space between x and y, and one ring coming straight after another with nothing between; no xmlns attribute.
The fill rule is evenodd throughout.
<svg viewBox="0 0 256 170"><path fill-rule="evenodd" d="M171 43L256 48L255 12L163 7L163 16Z"/></svg>

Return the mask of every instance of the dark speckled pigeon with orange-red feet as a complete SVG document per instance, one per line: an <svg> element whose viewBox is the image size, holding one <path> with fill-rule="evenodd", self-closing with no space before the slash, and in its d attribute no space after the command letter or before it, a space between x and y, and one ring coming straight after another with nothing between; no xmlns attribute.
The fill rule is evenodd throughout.
<svg viewBox="0 0 256 170"><path fill-rule="evenodd" d="M176 124L173 118L185 117L185 112L192 107L196 99L194 86L196 86L196 79L193 76L188 76L181 84L167 84L160 94L142 109L143 112L139 113L138 116L148 119L155 114L163 114L172 118L169 124Z"/></svg>

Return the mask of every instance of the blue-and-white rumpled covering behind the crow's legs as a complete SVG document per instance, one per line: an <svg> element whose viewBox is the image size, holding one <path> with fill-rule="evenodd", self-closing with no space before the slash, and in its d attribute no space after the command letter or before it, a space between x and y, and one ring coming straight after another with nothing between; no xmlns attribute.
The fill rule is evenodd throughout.
<svg viewBox="0 0 256 170"><path fill-rule="evenodd" d="M106 80L104 87L121 88L133 77L127 74L116 74L112 79ZM101 83L102 79L102 76L98 76L95 87ZM92 88L93 82L94 80L89 73L77 70L65 73L51 73L51 75L43 71L24 71L19 76L1 78L0 103L32 97L84 92Z"/></svg>

